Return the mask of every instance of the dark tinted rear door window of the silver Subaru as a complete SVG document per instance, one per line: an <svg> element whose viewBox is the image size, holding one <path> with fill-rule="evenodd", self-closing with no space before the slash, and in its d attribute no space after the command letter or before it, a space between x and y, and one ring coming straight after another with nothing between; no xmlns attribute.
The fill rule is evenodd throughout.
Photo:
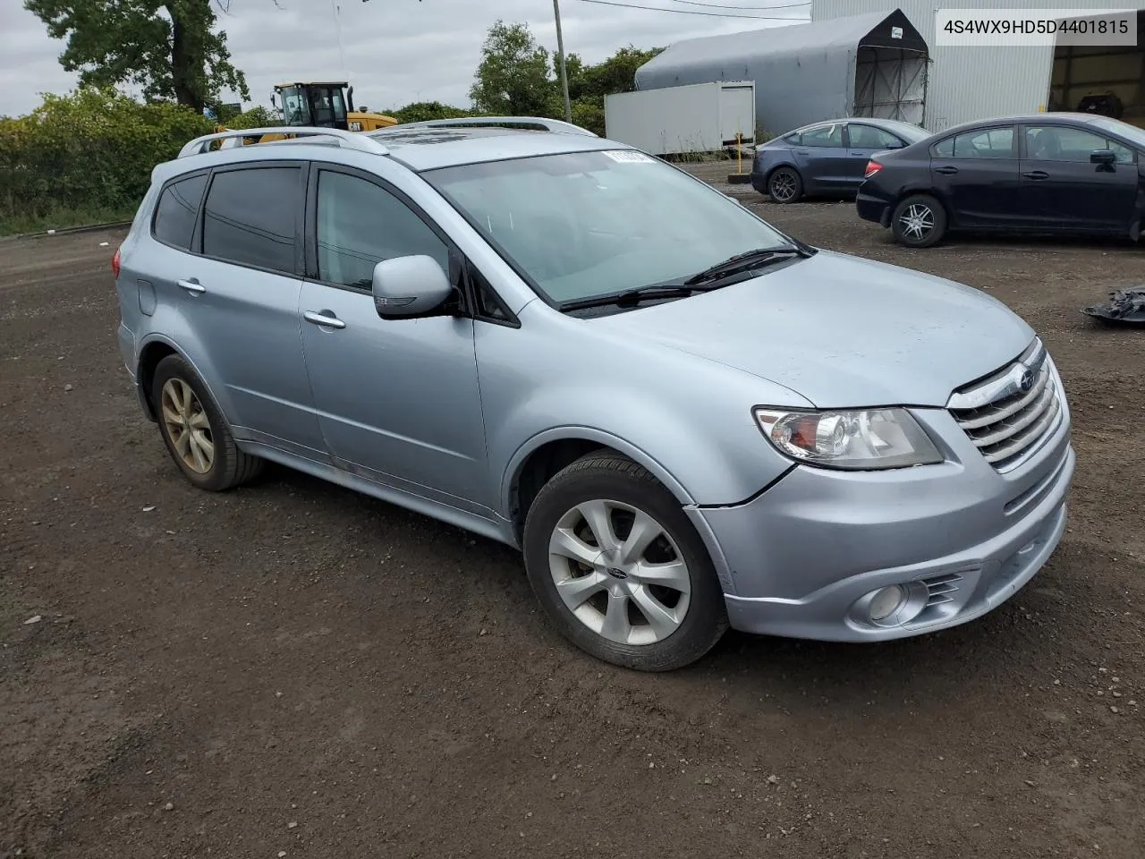
<svg viewBox="0 0 1145 859"><path fill-rule="evenodd" d="M216 173L207 191L203 253L293 274L298 186L298 167Z"/></svg>

